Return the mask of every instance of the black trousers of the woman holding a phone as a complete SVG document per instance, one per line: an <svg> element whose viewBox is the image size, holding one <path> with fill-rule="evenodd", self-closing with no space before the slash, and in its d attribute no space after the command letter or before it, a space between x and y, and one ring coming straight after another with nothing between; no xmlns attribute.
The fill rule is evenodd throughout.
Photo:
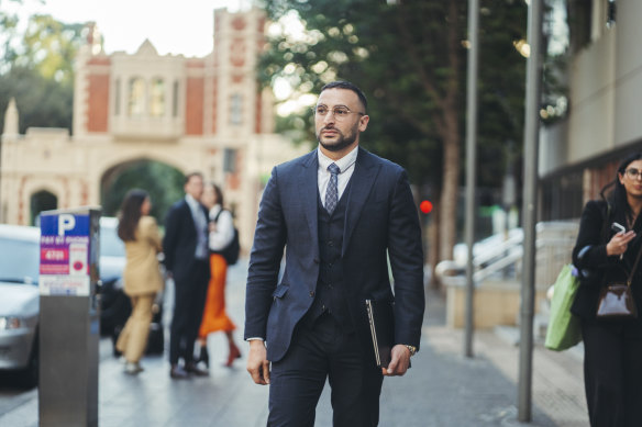
<svg viewBox="0 0 642 427"><path fill-rule="evenodd" d="M642 326L582 321L584 385L593 427L642 426Z"/></svg>

